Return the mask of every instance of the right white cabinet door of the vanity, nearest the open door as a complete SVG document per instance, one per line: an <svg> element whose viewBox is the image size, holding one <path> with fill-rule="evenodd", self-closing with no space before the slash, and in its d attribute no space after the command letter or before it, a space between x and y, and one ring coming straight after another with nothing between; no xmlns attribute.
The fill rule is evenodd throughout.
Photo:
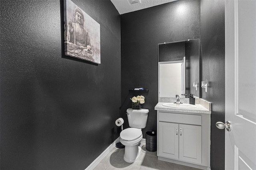
<svg viewBox="0 0 256 170"><path fill-rule="evenodd" d="M179 125L180 160L201 164L202 128L195 125Z"/></svg>

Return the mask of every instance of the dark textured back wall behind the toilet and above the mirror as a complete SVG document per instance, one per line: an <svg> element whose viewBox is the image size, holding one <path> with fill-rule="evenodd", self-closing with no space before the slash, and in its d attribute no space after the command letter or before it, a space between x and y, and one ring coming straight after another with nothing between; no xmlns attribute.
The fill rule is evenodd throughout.
<svg viewBox="0 0 256 170"><path fill-rule="evenodd" d="M183 9L178 10L178 9ZM156 130L158 103L158 43L200 38L200 1L179 0L121 15L122 117L132 103L129 89L144 87L143 108L149 109L147 130Z"/></svg>

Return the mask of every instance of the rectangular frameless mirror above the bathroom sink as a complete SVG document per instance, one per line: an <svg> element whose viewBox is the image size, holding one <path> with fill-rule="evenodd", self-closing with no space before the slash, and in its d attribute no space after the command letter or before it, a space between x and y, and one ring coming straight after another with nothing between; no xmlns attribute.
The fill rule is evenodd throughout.
<svg viewBox="0 0 256 170"><path fill-rule="evenodd" d="M199 43L194 39L158 44L158 97L200 97Z"/></svg>

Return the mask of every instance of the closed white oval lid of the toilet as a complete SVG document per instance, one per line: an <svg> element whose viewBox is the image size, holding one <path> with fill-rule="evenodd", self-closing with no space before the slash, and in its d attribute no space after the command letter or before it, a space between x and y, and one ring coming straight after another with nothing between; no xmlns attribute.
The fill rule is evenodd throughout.
<svg viewBox="0 0 256 170"><path fill-rule="evenodd" d="M126 128L120 133L123 140L135 140L142 135L142 131L138 128Z"/></svg>

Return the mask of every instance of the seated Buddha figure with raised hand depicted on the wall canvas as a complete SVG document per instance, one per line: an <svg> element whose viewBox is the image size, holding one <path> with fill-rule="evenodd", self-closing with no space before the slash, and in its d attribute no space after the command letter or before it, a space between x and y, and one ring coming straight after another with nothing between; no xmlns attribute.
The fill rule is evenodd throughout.
<svg viewBox="0 0 256 170"><path fill-rule="evenodd" d="M88 32L84 29L84 14L75 8L75 22L67 23L67 54L80 59L94 61L93 50Z"/></svg>

